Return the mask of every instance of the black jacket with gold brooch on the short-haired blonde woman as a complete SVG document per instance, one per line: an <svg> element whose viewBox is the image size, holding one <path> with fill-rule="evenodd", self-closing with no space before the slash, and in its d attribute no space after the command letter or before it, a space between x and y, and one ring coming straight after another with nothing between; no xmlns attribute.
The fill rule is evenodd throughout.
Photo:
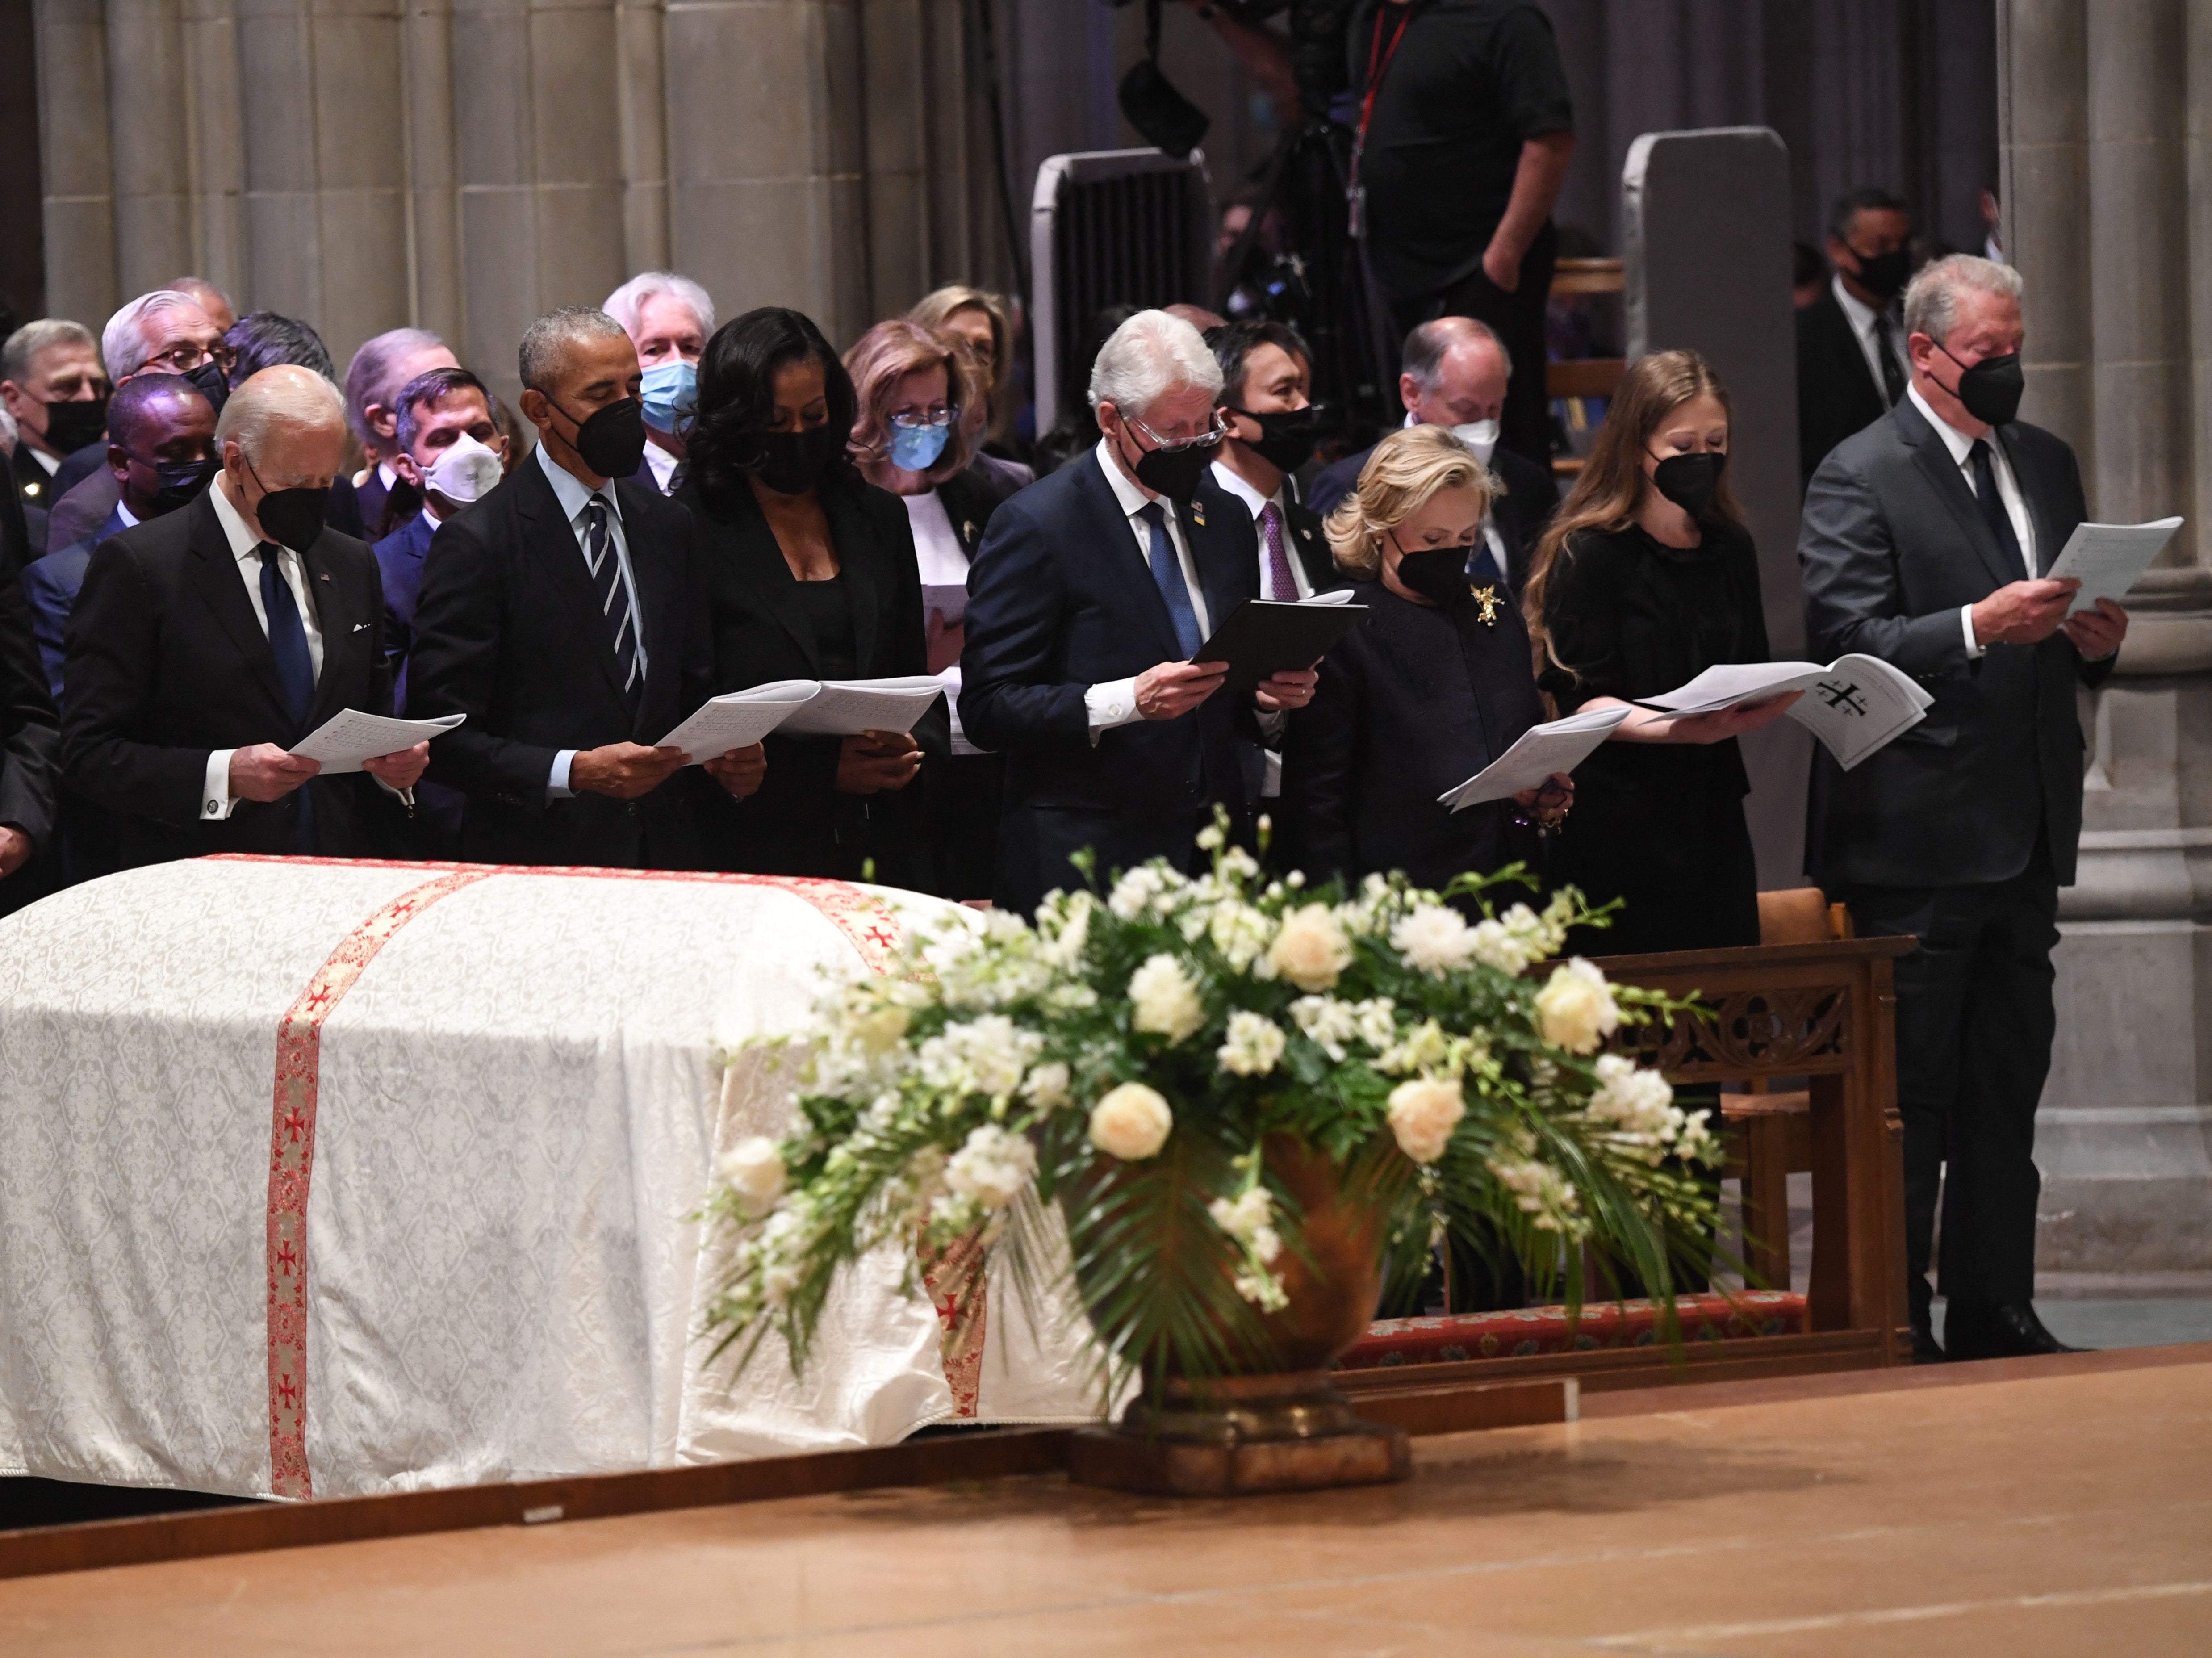
<svg viewBox="0 0 2212 1658"><path fill-rule="evenodd" d="M1440 888L1462 870L1533 859L1511 801L1436 804L1544 717L1515 607L1484 624L1467 595L1436 609L1376 580L1354 582L1354 602L1374 613L1323 660L1314 700L1285 733L1283 866L1354 883L1405 870Z"/></svg>

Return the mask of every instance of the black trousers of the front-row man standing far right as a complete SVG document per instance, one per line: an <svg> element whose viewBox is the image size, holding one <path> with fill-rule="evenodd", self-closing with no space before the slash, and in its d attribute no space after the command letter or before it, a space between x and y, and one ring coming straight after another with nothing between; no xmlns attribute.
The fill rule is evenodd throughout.
<svg viewBox="0 0 2212 1658"><path fill-rule="evenodd" d="M1858 934L1913 934L1898 961L1898 1113L1905 1120L1905 1268L1913 1322L1929 1317L1929 1255L1942 1202L1942 1293L2035 1297L2035 1105L2057 1012L2051 947L2059 888L2037 846L2011 881L1854 888Z"/></svg>

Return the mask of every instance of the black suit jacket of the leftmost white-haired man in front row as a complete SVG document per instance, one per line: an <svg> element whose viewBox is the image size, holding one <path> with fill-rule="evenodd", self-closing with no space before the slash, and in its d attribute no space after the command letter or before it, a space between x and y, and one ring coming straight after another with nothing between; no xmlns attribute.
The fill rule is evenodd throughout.
<svg viewBox="0 0 2212 1658"><path fill-rule="evenodd" d="M392 711L376 556L325 527L305 569L323 673L307 717L294 719L206 491L93 549L64 631L62 768L69 795L108 815L119 868L299 850L301 790L201 821L208 755L263 742L290 748L341 708ZM305 792L319 852L389 850L400 808L369 775L316 777Z"/></svg>

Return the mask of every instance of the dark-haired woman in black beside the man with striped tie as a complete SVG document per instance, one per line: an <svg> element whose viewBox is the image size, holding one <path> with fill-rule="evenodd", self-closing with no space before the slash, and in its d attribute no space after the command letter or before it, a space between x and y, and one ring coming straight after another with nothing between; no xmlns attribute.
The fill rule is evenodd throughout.
<svg viewBox="0 0 2212 1658"><path fill-rule="evenodd" d="M723 323L699 363L677 494L699 525L714 691L770 680L927 673L922 582L896 496L845 456L854 392L796 310ZM768 737L768 781L717 806L708 859L754 874L929 885L922 755L947 746L942 700L914 733Z"/></svg>

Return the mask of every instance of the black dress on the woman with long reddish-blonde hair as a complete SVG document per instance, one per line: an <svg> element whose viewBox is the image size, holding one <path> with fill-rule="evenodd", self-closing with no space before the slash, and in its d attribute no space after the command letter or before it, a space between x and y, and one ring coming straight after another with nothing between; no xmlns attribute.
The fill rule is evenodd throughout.
<svg viewBox="0 0 2212 1658"><path fill-rule="evenodd" d="M1655 697L1721 662L1767 662L1759 553L1741 529L1705 527L1679 551L1630 525L1568 538L1544 595L1542 686L1573 713L1590 697ZM1597 905L1626 899L1584 954L1759 943L1759 866L1743 821L1750 779L1736 739L1606 742L1575 770L1575 810L1553 874Z"/></svg>

